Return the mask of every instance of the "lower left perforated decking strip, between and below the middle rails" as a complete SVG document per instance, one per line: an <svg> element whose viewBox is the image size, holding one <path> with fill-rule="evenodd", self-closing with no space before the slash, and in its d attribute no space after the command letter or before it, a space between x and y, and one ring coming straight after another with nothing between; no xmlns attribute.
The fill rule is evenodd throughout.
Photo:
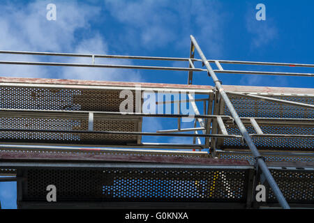
<svg viewBox="0 0 314 223"><path fill-rule="evenodd" d="M95 116L94 131L137 132L139 117ZM39 116L0 118L1 129L19 129L18 132L1 131L0 141L41 142L63 144L137 144L137 136L125 134L92 134L68 132L26 132L23 130L88 130L88 116Z"/></svg>

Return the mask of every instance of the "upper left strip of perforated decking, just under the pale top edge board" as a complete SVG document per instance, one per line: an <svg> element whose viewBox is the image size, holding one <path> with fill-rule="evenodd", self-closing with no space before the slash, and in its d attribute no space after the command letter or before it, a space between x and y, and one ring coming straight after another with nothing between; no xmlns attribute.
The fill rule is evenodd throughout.
<svg viewBox="0 0 314 223"><path fill-rule="evenodd" d="M120 91L0 87L1 109L119 112ZM133 104L135 111L135 100Z"/></svg>

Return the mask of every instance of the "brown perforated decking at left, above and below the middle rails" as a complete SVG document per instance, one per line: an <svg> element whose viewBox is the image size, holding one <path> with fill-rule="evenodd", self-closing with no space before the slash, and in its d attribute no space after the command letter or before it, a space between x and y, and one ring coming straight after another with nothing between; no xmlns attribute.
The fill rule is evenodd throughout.
<svg viewBox="0 0 314 223"><path fill-rule="evenodd" d="M120 91L91 89L44 89L31 87L0 87L1 109L71 110L119 112L124 98ZM135 109L135 100L134 109ZM142 118L94 116L94 131L137 132ZM80 114L1 114L0 141L64 144L137 144L140 137L123 134L91 134L65 132L26 132L23 130L88 130L88 116Z"/></svg>

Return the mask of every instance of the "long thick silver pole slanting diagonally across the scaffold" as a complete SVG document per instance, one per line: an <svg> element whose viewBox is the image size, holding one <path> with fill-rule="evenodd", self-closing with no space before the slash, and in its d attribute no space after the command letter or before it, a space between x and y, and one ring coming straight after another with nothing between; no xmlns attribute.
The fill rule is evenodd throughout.
<svg viewBox="0 0 314 223"><path fill-rule="evenodd" d="M242 123L241 119L239 118L237 111L234 109L230 99L227 96L227 93L225 93L223 86L220 84L220 80L218 79L214 70L211 68L211 66L209 65L209 62L207 61L206 57L204 56L202 49L200 49L200 46L197 44L195 38L192 35L190 36L190 40L193 43L193 45L195 46L195 49L197 50L198 54L200 54L200 57L202 59L202 62L204 63L204 66L206 66L207 71L209 72L209 75L211 76L211 78L213 79L213 81L216 85L216 89L219 91L221 97L225 101L225 105L229 109L232 117L234 118L234 122L237 123L238 128L239 128L242 136L244 137L244 139L246 141L246 144L248 144L248 147L251 149L253 156L256 159L258 167L260 167L265 178L267 178L267 181L268 181L271 189L273 190L278 202L281 204L281 206L283 208L290 209L290 206L288 205L287 201L285 200L285 197L283 197L283 193L279 189L273 176L271 176L271 173L270 173L267 165L265 164L264 160L262 159L262 156L260 155L260 153L257 151L257 148L256 148L255 144L253 143L253 140L251 139L250 135L248 134L248 131L244 127L244 124Z"/></svg>

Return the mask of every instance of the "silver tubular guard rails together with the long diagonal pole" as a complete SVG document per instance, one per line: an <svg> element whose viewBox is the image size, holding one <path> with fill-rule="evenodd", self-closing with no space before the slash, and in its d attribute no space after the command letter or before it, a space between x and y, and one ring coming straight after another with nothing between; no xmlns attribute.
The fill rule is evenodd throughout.
<svg viewBox="0 0 314 223"><path fill-rule="evenodd" d="M189 95L188 100L184 102L191 102L192 107L195 112L195 123L196 121L200 123L200 128L197 128L196 125L194 128L181 129L180 123L178 123L178 129L174 130L159 130L157 132L116 132L116 131L94 131L93 130L93 120L89 120L89 130L30 130L30 129L7 129L2 128L0 132L10 131L22 131L22 132L68 132L68 133L95 133L95 134L133 134L133 135L147 135L147 136L169 136L169 137L193 137L194 143L197 141L197 146L199 148L209 148L209 140L216 138L241 138L244 139L245 143L251 150L255 160L256 160L256 168L262 171L262 175L267 179L271 189L273 190L278 202L281 204L283 208L290 208L279 190L278 185L276 184L274 178L271 176L271 173L264 162L264 159L260 152L257 150L252 137L308 137L313 138L312 134L264 134L258 124L258 121L262 120L264 123L269 121L269 123L281 122L281 123L293 123L293 125L310 125L313 126L313 119L311 118L252 118L252 117L239 117L236 109L234 109L232 102L230 101L228 95L238 95L241 97L254 98L255 100L263 100L263 101L271 101L276 102L283 105L292 105L296 107L303 107L305 109L314 109L314 105L308 105L301 102L291 102L288 100L281 100L276 98L269 98L267 96L254 95L252 93L237 93L232 91L225 91L220 80L216 76L216 73L220 74L234 74L234 75L280 75L280 76L300 76L300 77L314 77L313 73L306 72L268 72L268 71L254 71L254 70L224 70L222 63L226 64L241 64L241 65L256 65L256 66L288 66L288 67L304 67L304 68L314 68L313 64L301 64L301 63L272 63L272 62L255 62L255 61L229 61L229 60L208 60L202 53L202 49L197 44L197 41L193 36L191 38L190 45L190 57L189 58L177 58L177 57L156 57L156 56L122 56L122 55L101 55L101 54L65 54L65 53L52 53L52 52L17 52L17 51L0 51L0 54L20 54L20 55L33 55L33 56L68 56L68 57L84 57L90 58L91 63L54 63L54 62L30 62L30 61L0 61L0 64L6 65L27 65L27 66L73 66L73 67L87 67L87 68L122 68L122 69L142 69L142 70L174 70L174 71L188 71L188 84L193 83L193 72L207 72L209 76L213 79L216 94L218 97L221 97L225 102L225 106L229 109L231 116L223 116L223 115L211 115L210 101L209 99L194 99L191 95ZM195 59L195 49L200 54L201 59ZM99 64L96 63L96 59L134 59L134 60L152 60L152 61L187 61L188 68L183 67L169 67L169 66L133 66L133 65L112 65L112 64ZM202 63L206 69L196 68L196 63ZM215 63L218 70L214 70L211 68L209 63ZM314 95L310 95L314 97ZM206 100L208 102L207 114L206 109L204 109L204 114L200 114L197 109L197 105L195 101L205 101L204 107L206 106ZM165 102L165 103L176 103L175 101ZM214 105L212 105L214 106ZM94 112L94 111L43 111L43 110L31 110L31 109L0 109L0 114L2 112L22 112L22 113L31 113L34 112L36 114L40 113L51 113L51 114L86 114L87 116L92 114L104 114L104 115L121 115L120 112ZM144 114L144 113L132 113L126 114L126 116L140 116L140 117L163 117L163 118L184 118L188 117L188 115L183 114ZM203 120L204 119L204 120ZM213 134L211 132L211 121L214 119L216 121L216 125L220 128L222 134ZM228 134L225 128L225 123L227 121L231 121L232 123L236 123L239 128L241 135L237 134ZM248 134L246 127L244 126L245 122L250 122L257 134ZM199 134L197 131L202 132ZM174 133L174 132L195 132L194 134L182 134L182 133ZM200 137L205 137L205 144L200 144ZM197 139L197 140L196 140ZM30 149L31 145L25 147L27 145L20 145L20 149L27 148ZM154 146L154 144L142 144L142 147ZM166 148L167 146L174 146L172 144L156 144L157 148ZM188 148L192 145L182 145L182 148ZM131 147L131 146L130 146ZM0 145L0 148L11 148L10 145ZM17 145L16 148L19 148ZM66 147L58 147L58 146L50 146L50 149L67 149ZM181 147L180 147L181 148ZM297 154L297 153L296 153ZM301 154L301 153L300 153Z"/></svg>

